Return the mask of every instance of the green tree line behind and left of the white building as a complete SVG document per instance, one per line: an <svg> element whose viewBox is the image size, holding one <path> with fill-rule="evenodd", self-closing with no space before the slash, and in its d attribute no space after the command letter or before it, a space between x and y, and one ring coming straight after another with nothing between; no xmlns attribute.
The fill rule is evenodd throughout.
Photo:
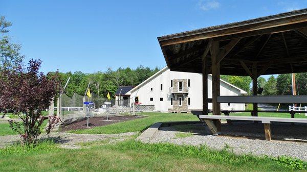
<svg viewBox="0 0 307 172"><path fill-rule="evenodd" d="M117 70L113 70L109 67L106 71L94 73L83 73L81 71L58 72L58 78L62 87L64 87L68 78L71 78L64 91L68 96L72 96L74 93L84 95L90 83L89 88L92 93L101 97L106 97L107 93L110 93L111 97L114 97L119 86L139 85L159 70L158 67L150 68L143 65L138 66L136 69L120 67ZM55 72L50 72L50 76L53 73Z"/></svg>

